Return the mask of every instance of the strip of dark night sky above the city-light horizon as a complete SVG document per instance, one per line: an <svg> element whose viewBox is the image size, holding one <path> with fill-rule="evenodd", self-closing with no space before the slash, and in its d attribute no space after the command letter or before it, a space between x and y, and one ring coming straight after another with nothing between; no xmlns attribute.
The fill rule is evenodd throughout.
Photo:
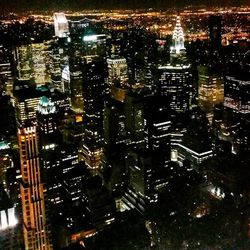
<svg viewBox="0 0 250 250"><path fill-rule="evenodd" d="M0 0L0 5L9 10L167 8L201 4L206 6L239 6L250 4L250 0Z"/></svg>

